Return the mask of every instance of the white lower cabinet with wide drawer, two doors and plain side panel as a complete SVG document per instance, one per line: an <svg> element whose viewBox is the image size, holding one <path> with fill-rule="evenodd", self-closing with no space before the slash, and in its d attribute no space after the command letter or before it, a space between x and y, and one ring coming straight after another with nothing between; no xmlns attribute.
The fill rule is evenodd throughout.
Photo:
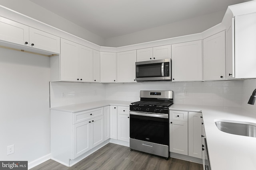
<svg viewBox="0 0 256 170"><path fill-rule="evenodd" d="M70 160L103 143L103 111L104 107L76 113L51 110L52 159L69 166Z"/></svg>

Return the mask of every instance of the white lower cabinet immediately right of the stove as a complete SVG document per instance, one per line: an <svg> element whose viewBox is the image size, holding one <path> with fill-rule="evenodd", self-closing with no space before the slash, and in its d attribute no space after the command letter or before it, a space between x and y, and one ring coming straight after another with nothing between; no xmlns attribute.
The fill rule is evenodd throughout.
<svg viewBox="0 0 256 170"><path fill-rule="evenodd" d="M170 152L202 158L200 112L170 110Z"/></svg>

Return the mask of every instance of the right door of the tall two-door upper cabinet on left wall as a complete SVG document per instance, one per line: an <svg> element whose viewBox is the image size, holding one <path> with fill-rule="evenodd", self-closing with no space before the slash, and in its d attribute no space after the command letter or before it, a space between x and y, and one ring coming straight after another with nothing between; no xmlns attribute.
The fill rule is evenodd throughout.
<svg viewBox="0 0 256 170"><path fill-rule="evenodd" d="M93 50L79 45L79 79L82 82L92 82Z"/></svg>

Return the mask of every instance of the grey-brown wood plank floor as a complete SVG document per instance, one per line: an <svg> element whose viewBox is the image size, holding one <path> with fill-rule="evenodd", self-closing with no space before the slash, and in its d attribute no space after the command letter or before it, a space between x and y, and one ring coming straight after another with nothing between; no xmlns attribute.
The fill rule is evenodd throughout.
<svg viewBox="0 0 256 170"><path fill-rule="evenodd" d="M48 160L31 170L203 170L202 164L130 151L129 147L108 143L72 167Z"/></svg>

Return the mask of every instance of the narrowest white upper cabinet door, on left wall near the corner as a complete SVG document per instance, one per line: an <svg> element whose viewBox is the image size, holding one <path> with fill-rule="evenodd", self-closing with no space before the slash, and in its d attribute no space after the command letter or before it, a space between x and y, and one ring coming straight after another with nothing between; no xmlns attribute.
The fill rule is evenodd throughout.
<svg viewBox="0 0 256 170"><path fill-rule="evenodd" d="M100 51L93 50L93 82L100 82Z"/></svg>

